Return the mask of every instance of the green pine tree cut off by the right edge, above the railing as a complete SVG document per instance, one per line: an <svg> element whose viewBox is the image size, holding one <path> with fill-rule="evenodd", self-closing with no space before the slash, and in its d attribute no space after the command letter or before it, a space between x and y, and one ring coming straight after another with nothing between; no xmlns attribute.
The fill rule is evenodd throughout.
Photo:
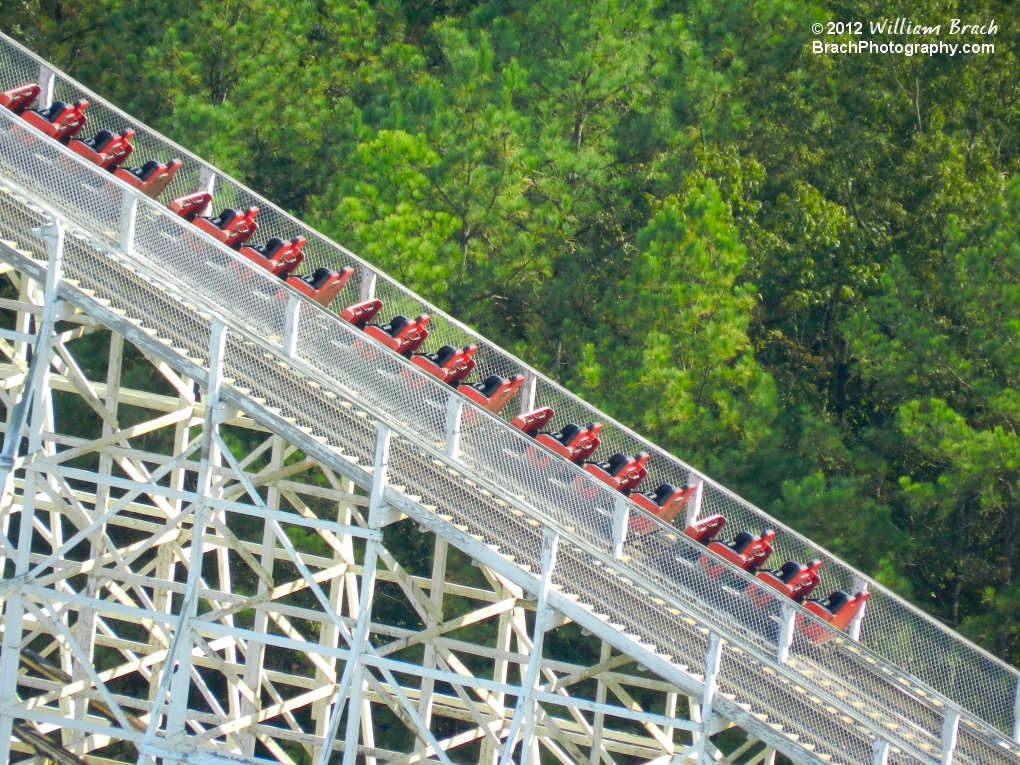
<svg viewBox="0 0 1020 765"><path fill-rule="evenodd" d="M989 621L1016 590L1020 519L1020 178L970 231L951 219L950 268L925 289L902 260L849 329L875 400L918 595L1000 656L1020 630Z"/></svg>

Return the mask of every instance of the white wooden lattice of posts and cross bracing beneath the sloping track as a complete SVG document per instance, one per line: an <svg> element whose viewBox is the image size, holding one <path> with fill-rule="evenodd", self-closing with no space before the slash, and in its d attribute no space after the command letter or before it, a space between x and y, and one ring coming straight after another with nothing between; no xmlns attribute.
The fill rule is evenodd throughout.
<svg viewBox="0 0 1020 765"><path fill-rule="evenodd" d="M0 339L9 423L46 290L9 268L2 278L10 297L0 312L15 327ZM180 761L325 762L325 747L339 762L344 733L324 736L352 656L342 632L359 623L370 650L357 654L359 693L344 694L358 712L346 737L371 765L440 759L437 745L444 757L495 765L528 667L531 719L520 728L531 741L513 758L524 747L596 765L774 756L724 720L706 729L700 698L549 608L536 660L529 593L410 518L373 525L371 486L90 316L61 301L51 308L63 313L46 373L27 393L34 443L0 500L0 597L6 612L23 606L14 693L0 700L0 719L20 726L12 760L52 759L35 735L59 741L68 762L131 762L148 735L157 755ZM15 572L27 518L31 550ZM376 583L366 602L370 546ZM335 729L351 717L345 710ZM699 749L706 730L714 738Z"/></svg>

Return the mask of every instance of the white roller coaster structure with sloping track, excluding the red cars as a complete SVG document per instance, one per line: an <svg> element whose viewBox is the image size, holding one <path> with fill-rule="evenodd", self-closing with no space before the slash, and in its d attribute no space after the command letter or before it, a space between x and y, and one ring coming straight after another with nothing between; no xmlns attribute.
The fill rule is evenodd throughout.
<svg viewBox="0 0 1020 765"><path fill-rule="evenodd" d="M183 158L163 199L205 188L219 207L258 206L262 235L308 238L306 263L357 269L335 305L377 297L388 315L429 313L434 341L479 346L479 377L525 375L520 411L601 421L606 453L652 455L649 484L697 484L688 520L770 526L780 560L824 561L820 591L871 593L845 633L781 597L749 597L754 577L722 559L722 573L707 575L704 548L681 525L573 464L536 460L542 448L507 421L517 402L509 417L476 408L0 109L0 261L17 290L0 302L13 325L0 329L4 756L450 762L480 742L468 757L501 765L540 751L608 765L776 752L797 763L1020 762L1011 667L17 44L4 38L0 51L0 90L38 82L45 96L87 98L90 131L132 125L143 160ZM109 370L119 372L114 349L126 341L176 398L109 370L100 396L73 358L73 343L100 330L120 339ZM54 414L69 395L99 418L101 438ZM165 413L123 427L119 405ZM170 453L140 445L161 427L175 428ZM224 441L238 428L268 439L240 457ZM309 470L327 488L291 480ZM261 524L260 541L232 526L242 517ZM653 532L627 536L638 517ZM386 540L397 531L431 541L431 579L394 559ZM308 534L324 553L301 547ZM451 580L450 549L491 589ZM386 588L407 599L411 626L373 615ZM489 605L451 617L444 597ZM458 631L486 619L499 620L493 645ZM589 636L599 660L556 658L558 633ZM33 649L55 652L71 682L27 662ZM286 671L274 664L284 656ZM622 673L628 662L644 671ZM303 695L278 691L285 675ZM405 726L397 745L376 741L373 708ZM461 728L441 741L444 716Z"/></svg>

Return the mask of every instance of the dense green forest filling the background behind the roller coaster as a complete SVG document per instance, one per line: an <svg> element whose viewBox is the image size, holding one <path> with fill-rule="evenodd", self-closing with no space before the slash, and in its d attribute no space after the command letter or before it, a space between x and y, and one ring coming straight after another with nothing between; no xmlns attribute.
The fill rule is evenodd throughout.
<svg viewBox="0 0 1020 765"><path fill-rule="evenodd" d="M812 23L898 16L993 18L996 51L811 52ZM1018 21L0 0L5 33L1020 665Z"/></svg>

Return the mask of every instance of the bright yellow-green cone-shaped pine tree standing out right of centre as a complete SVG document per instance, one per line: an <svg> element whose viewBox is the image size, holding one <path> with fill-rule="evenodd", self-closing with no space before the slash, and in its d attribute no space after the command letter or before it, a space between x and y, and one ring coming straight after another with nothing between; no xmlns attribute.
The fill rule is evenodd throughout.
<svg viewBox="0 0 1020 765"><path fill-rule="evenodd" d="M771 379L748 326L746 251L708 183L668 201L638 237L640 254L613 312L614 336L579 371L614 413L696 464L753 451L775 416ZM610 392L624 391L625 396Z"/></svg>

